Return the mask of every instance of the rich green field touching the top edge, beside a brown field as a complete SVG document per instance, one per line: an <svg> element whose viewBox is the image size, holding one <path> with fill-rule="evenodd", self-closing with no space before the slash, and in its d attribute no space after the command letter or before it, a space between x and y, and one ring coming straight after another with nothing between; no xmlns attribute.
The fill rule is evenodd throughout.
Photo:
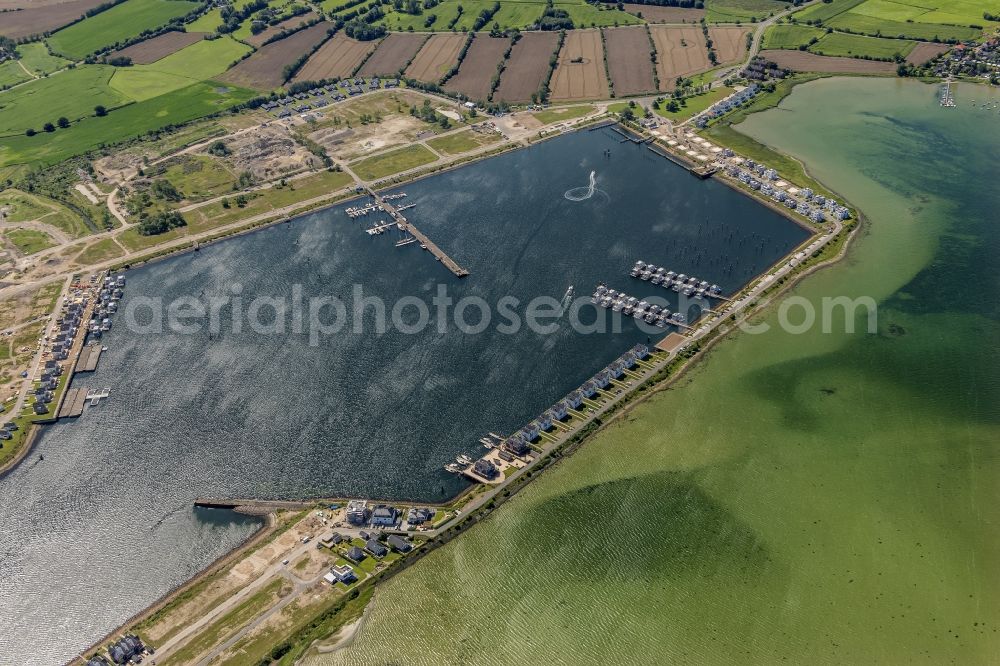
<svg viewBox="0 0 1000 666"><path fill-rule="evenodd" d="M190 0L126 0L49 37L55 53L79 60L105 46L138 36L196 9Z"/></svg>

